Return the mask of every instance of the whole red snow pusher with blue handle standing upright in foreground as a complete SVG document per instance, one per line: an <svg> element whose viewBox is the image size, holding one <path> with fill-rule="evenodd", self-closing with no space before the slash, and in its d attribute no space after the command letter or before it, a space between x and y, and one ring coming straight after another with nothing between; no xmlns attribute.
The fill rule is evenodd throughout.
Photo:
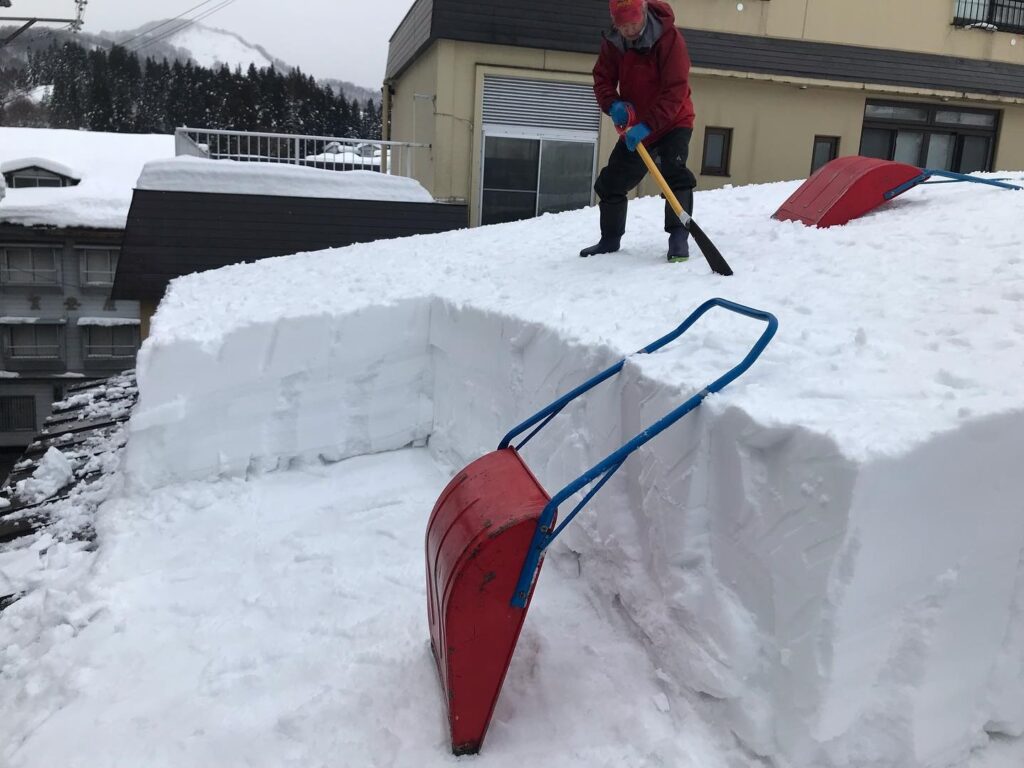
<svg viewBox="0 0 1024 768"><path fill-rule="evenodd" d="M519 451L569 402L623 370L620 360L513 428L497 451L459 472L434 505L426 534L427 613L434 659L447 706L452 751L479 751L490 723L519 631L526 617L545 549L600 490L626 459L742 375L775 335L778 321L759 309L710 299L679 327L637 353L679 338L705 312L721 307L767 328L746 356L725 375L643 430L553 497ZM512 440L531 430L517 445ZM555 526L558 507L594 483Z"/></svg>

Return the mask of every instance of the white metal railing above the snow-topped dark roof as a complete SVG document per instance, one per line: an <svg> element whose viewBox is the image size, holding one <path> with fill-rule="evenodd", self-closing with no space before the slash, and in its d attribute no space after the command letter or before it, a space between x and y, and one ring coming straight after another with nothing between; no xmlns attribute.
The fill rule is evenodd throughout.
<svg viewBox="0 0 1024 768"><path fill-rule="evenodd" d="M178 128L175 155L250 163L284 163L329 171L378 171L413 175L413 156L430 144L294 133Z"/></svg>

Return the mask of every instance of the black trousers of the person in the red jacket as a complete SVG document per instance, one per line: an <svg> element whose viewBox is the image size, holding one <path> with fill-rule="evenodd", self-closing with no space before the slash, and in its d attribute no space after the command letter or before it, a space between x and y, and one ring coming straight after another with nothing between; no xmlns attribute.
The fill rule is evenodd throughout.
<svg viewBox="0 0 1024 768"><path fill-rule="evenodd" d="M686 167L690 154L692 128L673 128L647 148L657 164L666 183L687 213L693 213L693 187L697 180ZM626 194L647 175L647 166L639 153L630 152L625 141L615 143L608 165L601 169L594 191L601 201L601 237L621 238L626 231ZM668 201L665 203L665 230L682 226Z"/></svg>

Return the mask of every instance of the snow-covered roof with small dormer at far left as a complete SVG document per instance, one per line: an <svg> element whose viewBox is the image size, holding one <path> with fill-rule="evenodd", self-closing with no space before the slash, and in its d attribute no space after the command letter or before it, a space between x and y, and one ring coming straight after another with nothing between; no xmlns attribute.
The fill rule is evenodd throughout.
<svg viewBox="0 0 1024 768"><path fill-rule="evenodd" d="M45 159L81 178L76 186L8 189L0 223L123 229L142 166L173 156L171 135L0 127L0 163Z"/></svg>

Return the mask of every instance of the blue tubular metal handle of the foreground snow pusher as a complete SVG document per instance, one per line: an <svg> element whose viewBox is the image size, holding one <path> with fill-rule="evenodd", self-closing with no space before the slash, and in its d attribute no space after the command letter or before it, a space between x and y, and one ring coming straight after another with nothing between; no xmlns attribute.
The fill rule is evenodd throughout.
<svg viewBox="0 0 1024 768"><path fill-rule="evenodd" d="M627 442L621 449L609 455L602 462L595 465L589 469L584 474L580 475L577 479L572 480L568 485L563 487L557 494L555 494L551 501L545 506L544 511L541 513L540 519L537 521L537 529L534 531L534 539L529 544L529 551L526 553L526 559L522 564L522 570L519 571L519 580L516 583L515 593L512 595L512 605L517 608L526 607L526 598L529 595L530 586L534 583L534 579L537 575L537 567L541 562L541 556L544 554L544 550L555 540L555 538L562 532L566 525L571 522L572 518L579 514L587 503L594 497L594 495L601 489L601 486L607 482L611 475L614 474L623 462L626 461L627 457L634 451L639 449L648 440L652 439L656 435L664 432L666 429L671 427L681 418L686 416L690 411L699 406L705 397L713 392L718 392L726 387L731 382L735 381L739 376L741 376L754 361L761 356L761 352L764 351L765 347L768 346L768 342L771 341L772 337L775 335L775 331L778 330L778 321L775 315L770 312L765 312L760 309L753 309L749 306L743 306L742 304L736 304L732 301L727 301L726 299L710 299L697 307L693 312L687 317L683 323L672 333L666 334L657 341L648 344L643 349L639 350L640 353L649 353L657 349L660 349L666 344L678 339L686 331L696 323L700 316L707 312L712 307L722 307L723 309L729 309L733 312L738 312L739 314L744 314L748 317L754 319L764 321L768 324L764 333L761 334L761 338L758 339L757 343L751 348L751 351L746 356L740 361L738 366L731 369L724 376L716 379L714 382L709 384L707 387L701 389L695 395L690 397L686 402L677 408L675 411L669 413L658 421L656 421L651 426L647 427L644 431L634 437L632 440ZM589 381L581 384L579 387L573 389L568 394L559 397L557 400L552 402L543 411L535 414L532 417L524 421L522 424L518 425L511 432L509 432L502 439L499 449L505 449L509 446L511 440L518 434L521 434L525 430L529 429L535 424L540 422L540 426L537 427L530 434L516 447L519 449L525 444L535 434L537 434L548 422L550 422L565 406L571 402L573 399L579 397L581 394L589 389L594 388L602 381L610 379L612 376L616 375L623 370L623 366L626 365L625 358L616 362L611 368L606 371L601 372ZM570 496L575 494L581 488L594 482L598 477L600 480L597 484L590 489L587 496L577 505L562 522L554 530L551 529L552 522L555 519L555 514L558 512L558 506L568 499Z"/></svg>

